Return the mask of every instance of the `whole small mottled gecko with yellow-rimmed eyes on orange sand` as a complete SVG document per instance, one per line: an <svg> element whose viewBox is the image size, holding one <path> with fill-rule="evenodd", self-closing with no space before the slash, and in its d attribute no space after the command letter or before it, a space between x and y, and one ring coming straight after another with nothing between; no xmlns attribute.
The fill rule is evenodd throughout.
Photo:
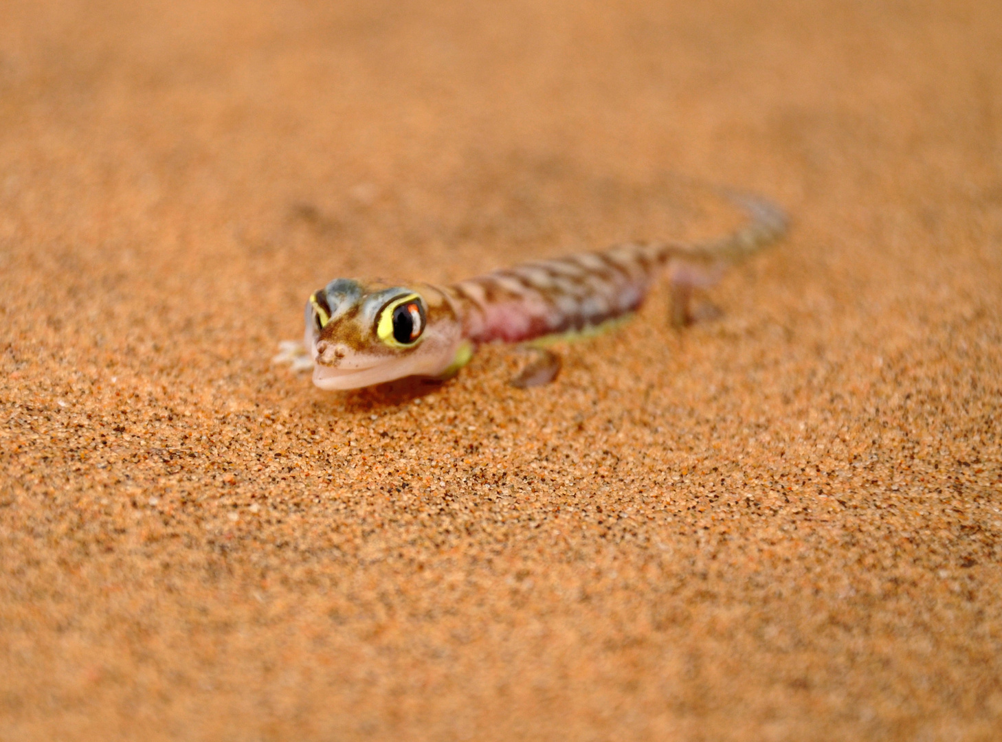
<svg viewBox="0 0 1002 742"><path fill-rule="evenodd" d="M560 359L545 345L594 334L628 316L667 274L671 321L691 321L694 287L720 267L780 238L783 210L728 193L747 215L743 226L705 242L619 244L503 268L452 285L336 278L307 301L304 341L282 343L276 362L313 368L314 384L351 390L405 377L445 380L485 342L526 343L537 356L516 387L552 381Z"/></svg>

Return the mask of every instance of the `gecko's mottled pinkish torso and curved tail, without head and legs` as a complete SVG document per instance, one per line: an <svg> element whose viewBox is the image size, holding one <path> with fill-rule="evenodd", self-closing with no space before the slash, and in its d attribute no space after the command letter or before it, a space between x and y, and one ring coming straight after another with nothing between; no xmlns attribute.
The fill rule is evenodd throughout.
<svg viewBox="0 0 1002 742"><path fill-rule="evenodd" d="M450 286L463 334L480 343L521 342L588 331L634 311L671 262L735 262L786 232L772 202L745 193L725 196L748 215L736 231L703 242L625 243L596 252L522 263Z"/></svg>

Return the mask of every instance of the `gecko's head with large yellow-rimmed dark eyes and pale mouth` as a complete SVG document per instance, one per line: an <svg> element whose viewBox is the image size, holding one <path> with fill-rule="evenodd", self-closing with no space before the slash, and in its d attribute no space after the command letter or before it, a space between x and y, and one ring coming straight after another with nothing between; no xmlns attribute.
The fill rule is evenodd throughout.
<svg viewBox="0 0 1002 742"><path fill-rule="evenodd" d="M306 306L306 346L314 384L326 390L370 387L412 376L437 376L458 340L456 322L435 321L414 287L338 278Z"/></svg>

